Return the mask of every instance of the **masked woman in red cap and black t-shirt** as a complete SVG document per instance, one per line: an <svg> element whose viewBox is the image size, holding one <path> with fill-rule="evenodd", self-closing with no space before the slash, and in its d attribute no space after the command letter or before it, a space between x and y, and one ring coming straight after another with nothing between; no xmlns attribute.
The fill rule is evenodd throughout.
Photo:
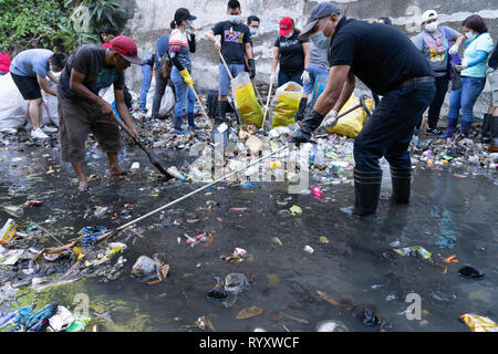
<svg viewBox="0 0 498 354"><path fill-rule="evenodd" d="M290 81L303 85L303 81L310 81L310 41L300 40L301 33L291 18L280 21L280 37L274 42L273 61L271 63L270 81L274 82L277 65L280 64L278 86ZM295 115L295 122L302 121L307 108L308 95L303 94Z"/></svg>

